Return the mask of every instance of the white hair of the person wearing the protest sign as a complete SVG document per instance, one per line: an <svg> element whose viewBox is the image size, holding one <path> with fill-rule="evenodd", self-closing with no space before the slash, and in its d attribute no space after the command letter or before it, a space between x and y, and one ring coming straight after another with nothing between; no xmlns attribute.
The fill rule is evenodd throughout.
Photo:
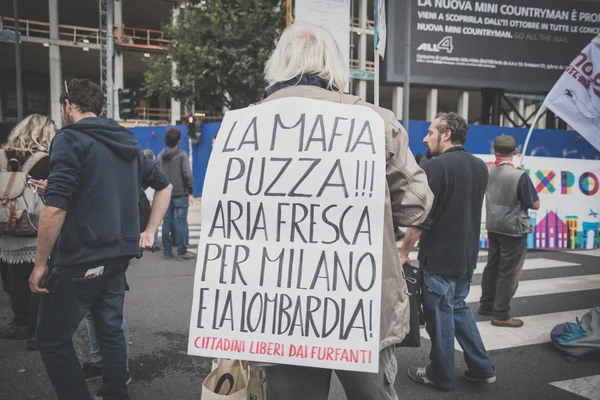
<svg viewBox="0 0 600 400"><path fill-rule="evenodd" d="M283 31L277 47L265 66L265 79L272 85L302 75L317 75L344 91L350 79L348 65L331 32L304 22Z"/></svg>

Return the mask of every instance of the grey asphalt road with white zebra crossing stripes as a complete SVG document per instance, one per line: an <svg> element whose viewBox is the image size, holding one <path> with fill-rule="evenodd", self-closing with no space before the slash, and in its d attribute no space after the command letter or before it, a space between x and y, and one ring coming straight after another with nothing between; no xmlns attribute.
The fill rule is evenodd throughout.
<svg viewBox="0 0 600 400"><path fill-rule="evenodd" d="M480 261L483 260L481 257ZM199 398L210 360L186 354L194 266L192 261L165 261L159 254L147 254L142 260L134 261L128 271L131 291L126 295L125 315L132 350L132 399ZM490 354L496 365L498 381L487 386L466 382L460 376L466 366L462 353L457 351L457 388L454 391L439 392L416 385L406 377L406 370L410 366L426 364L429 344L423 340L421 348L396 351L399 366L396 390L399 398L600 399L600 362L568 362L563 354L548 343L549 331L544 328L544 323L549 323L548 315L565 313L564 321L574 321L576 316L581 315L572 310L585 310L599 305L600 285L596 280L599 273L598 251L581 254L530 253L517 292L517 296L521 297L515 298L513 310L514 316L526 318L533 332L513 330L517 338L507 339L503 338L506 336L505 330L494 328L494 331L489 322L479 319L486 346L496 348ZM548 286L549 282L552 288ZM561 282L565 282L564 286L561 286ZM577 289L578 282L581 282L584 290ZM479 277L476 276L473 290L476 290L478 283ZM563 314L558 314L558 317L563 318ZM0 324L8 323L10 318L9 299L5 293L0 293ZM74 338L82 362L87 354L86 341L85 327L82 325ZM56 398L39 354L26 352L24 341L0 340L0 360L0 400ZM579 378L583 379L570 384L575 388L570 391L551 385L553 382ZM98 383L90 384L92 394L97 388ZM573 391L587 395L580 397ZM335 380L330 399L345 399L343 390Z"/></svg>

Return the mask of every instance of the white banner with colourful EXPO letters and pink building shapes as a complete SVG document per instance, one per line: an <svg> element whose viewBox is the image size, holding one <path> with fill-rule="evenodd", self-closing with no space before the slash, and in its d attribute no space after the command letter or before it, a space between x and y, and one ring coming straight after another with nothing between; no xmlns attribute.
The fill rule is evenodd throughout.
<svg viewBox="0 0 600 400"><path fill-rule="evenodd" d="M493 165L493 155L478 155ZM600 162L526 157L526 171L540 197L538 211L529 215L535 232L527 237L530 249L595 249L600 219ZM480 247L487 248L485 207Z"/></svg>

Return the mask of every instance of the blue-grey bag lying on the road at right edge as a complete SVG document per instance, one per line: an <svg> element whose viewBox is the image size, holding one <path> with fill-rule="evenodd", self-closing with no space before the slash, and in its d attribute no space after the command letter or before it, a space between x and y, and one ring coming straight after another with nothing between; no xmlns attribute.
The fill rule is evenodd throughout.
<svg viewBox="0 0 600 400"><path fill-rule="evenodd" d="M569 361L600 355L600 307L588 311L576 323L556 325L550 333L554 346L569 356Z"/></svg>

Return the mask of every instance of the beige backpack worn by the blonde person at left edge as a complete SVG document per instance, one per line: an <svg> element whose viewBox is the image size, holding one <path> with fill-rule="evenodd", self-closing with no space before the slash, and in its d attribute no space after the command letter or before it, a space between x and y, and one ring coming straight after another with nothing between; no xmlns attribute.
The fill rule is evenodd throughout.
<svg viewBox="0 0 600 400"><path fill-rule="evenodd" d="M19 160L8 160L6 151L0 150L0 235L35 236L44 202L37 188L30 184L28 175L42 158L35 152L21 165ZM13 165L18 165L16 171Z"/></svg>

